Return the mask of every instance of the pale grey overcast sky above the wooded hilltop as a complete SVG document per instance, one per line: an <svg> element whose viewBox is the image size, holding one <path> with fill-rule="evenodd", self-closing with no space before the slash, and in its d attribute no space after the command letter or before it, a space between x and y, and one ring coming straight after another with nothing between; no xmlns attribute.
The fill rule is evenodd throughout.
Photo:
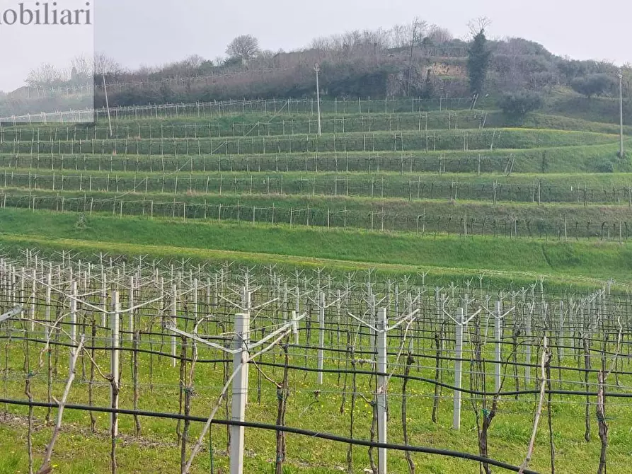
<svg viewBox="0 0 632 474"><path fill-rule="evenodd" d="M20 1L0 0L0 7L15 8ZM308 45L314 37L390 28L415 16L448 28L457 37L466 34L471 18L488 16L490 37L525 37L553 53L576 59L632 62L632 48L624 37L632 4L624 0L602 0L590 6L585 0L93 0L95 3L96 50L130 68L164 64L190 54L214 59L224 55L233 37L246 33L258 37L263 49L292 50ZM36 32L36 28L42 31ZM28 69L43 60L63 64L73 55L69 48L49 41L53 36L60 40L62 27L52 27L57 30L46 35L43 28L21 27L17 35L18 28L10 30L0 24L4 57L0 90L20 86ZM85 38L77 39L76 47L84 47L77 45L81 42ZM12 44L8 53L7 44Z"/></svg>

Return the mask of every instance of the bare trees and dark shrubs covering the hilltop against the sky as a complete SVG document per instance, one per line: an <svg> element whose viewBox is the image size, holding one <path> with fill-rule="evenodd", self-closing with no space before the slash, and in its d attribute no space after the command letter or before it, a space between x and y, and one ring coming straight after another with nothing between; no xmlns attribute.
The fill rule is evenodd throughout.
<svg viewBox="0 0 632 474"><path fill-rule="evenodd" d="M319 37L292 52L263 50L253 35L239 35L214 60L193 55L161 67L130 71L106 54L77 57L62 71L43 64L26 78L46 88L89 83L96 105L105 105L103 81L129 84L111 93L110 105L195 102L230 98L314 96L314 64L321 69L324 96L478 96L504 91L499 106L524 115L541 106L540 94L565 86L582 96L616 96L618 74L624 96L632 96L632 67L557 57L521 38L488 40L487 18L469 23L465 39L415 18L384 30L355 30ZM262 74L265 71L265 74ZM197 80L209 76L207 81ZM119 88L120 89L120 88Z"/></svg>

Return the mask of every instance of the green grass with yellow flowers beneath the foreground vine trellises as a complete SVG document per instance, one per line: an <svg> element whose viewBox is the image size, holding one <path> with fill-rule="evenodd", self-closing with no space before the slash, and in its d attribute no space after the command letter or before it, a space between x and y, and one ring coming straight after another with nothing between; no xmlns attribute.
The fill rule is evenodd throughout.
<svg viewBox="0 0 632 474"><path fill-rule="evenodd" d="M145 321L146 323L146 321ZM211 323L210 330L220 331L219 326ZM99 329L97 336L105 334ZM305 332L301 331L304 337ZM145 338L146 336L142 336ZM141 348L151 347L146 339L143 339ZM395 337L390 339L389 352L396 354L398 342ZM301 340L301 343L306 342ZM18 340L4 342L8 357L3 359L3 369L8 371L10 378L2 386L1 393L9 397L23 398L23 343ZM125 341L124 346L129 346ZM419 343L418 343L419 344ZM38 349L30 346L30 359L38 359ZM153 349L159 349L154 344ZM214 359L217 353L212 349L200 347L200 359ZM415 352L420 354L424 349L415 346ZM428 354L427 348L424 354ZM505 349L506 350L506 349ZM276 349L278 357L280 349ZM488 354L486 352L486 354ZM289 358L290 365L303 365L314 367L313 351L302 354L301 349ZM59 359L59 371L54 375L52 393L56 395L63 391L64 379L67 377L67 348L54 346L52 349L52 365ZM391 356L390 363L394 362ZM105 351L96 351L96 362L101 366L107 366L108 355ZM171 361L165 357L154 357L150 375L149 357L146 354L139 356L139 384L140 397L139 408L141 410L178 412L178 371L179 367L171 367ZM263 362L270 362L271 354L262 358ZM563 366L575 366L573 354L567 354L563 359ZM4 362L6 360L6 362ZM430 359L431 360L431 359ZM130 352L121 352L122 391L120 393L120 407L132 407L132 388L130 386ZM415 360L411 375L425 378L434 378L429 359ZM89 361L84 358L86 372ZM418 365L419 363L419 365ZM344 366L344 361L341 363ZM327 361L326 368L336 368L335 360ZM362 369L368 369L363 367ZM469 371L469 362L464 362L464 371ZM263 371L272 379L280 378L280 369L272 369L263 366ZM209 407L217 400L219 388L222 386L222 365L199 363L195 370L195 397L192 400L191 415L205 417ZM258 400L258 377L254 367L251 367L249 385L249 403L246 410L246 419L250 421L272 422L276 415L277 393L271 383L262 379L260 401ZM290 427L309 427L318 432L349 434L350 424L350 394L347 393L346 402L343 404L342 393L344 378L338 378L335 374L324 375L324 385L316 384L316 374L301 371L290 372L289 388L291 394L288 399L286 424ZM522 378L522 374L521 374ZM629 376L621 375L621 383L627 385ZM98 376L96 380L100 382ZM450 383L449 376L444 379ZM149 384L154 386L150 390ZM465 385L468 383L464 381ZM512 381L508 382L512 385ZM556 388L576 389L573 381L558 383L553 381ZM532 386L534 383L532 382ZM321 389L316 395L315 390ZM350 389L350 381L347 380L347 391ZM31 391L35 399L43 400L47 393L47 377L45 374L37 374L32 378ZM357 392L368 396L370 399L373 391L372 383L366 375L357 376ZM389 441L402 442L401 432L401 379L391 378L389 381ZM439 403L438 422L435 424L430 419L432 409L433 388L430 383L423 381L409 381L408 383L408 429L410 444L415 446L436 446L455 451L476 453L476 429L474 415L469 398L464 395L462 407L462 422L459 432L452 429L452 400L448 390L442 392ZM109 389L107 385L96 385L93 395L95 405L108 404ZM86 404L88 399L86 378L78 369L76 381L71 389L68 403ZM574 474L578 472L596 472L599 459L599 440L596 435L590 442L583 441L584 433L584 405L583 398L570 398L564 395L553 397L553 441L556 444L556 472L562 474ZM613 398L609 400L614 400ZM340 412L340 406L345 410ZM532 410L534 400L526 397L522 401L506 398L500 402L500 410L495 417L489 433L490 456L505 462L519 465L526 455L527 445L531 437ZM3 407L4 408L4 407ZM34 435L35 461L40 461L45 444L50 439L51 429L42 425L45 418L45 409L36 408ZM0 473L26 473L27 456L25 454L25 407L11 407L11 415L18 415L17 420L10 423L0 422L0 444L4 449L0 450ZM54 411L52 412L54 416ZM354 437L367 439L371 425L372 407L363 398L357 399L354 411ZM541 420L541 426L536 437L536 451L530 463L530 468L545 473L548 471L548 429L546 428L546 409ZM609 439L608 466L615 472L627 472L628 463L632 460L629 446L632 442L629 434L628 407L624 403L611 401L608 412ZM0 421L2 420L0 413ZM224 417L224 409L220 410L218 417ZM134 422L132 417L121 415L119 428L120 440L117 443L117 458L121 473L173 473L178 470L179 449L176 444L176 422L157 418L140 419L142 432L140 437L134 437ZM596 429L594 415L591 416L591 424ZM54 450L53 464L55 473L62 474L105 474L109 472L109 439L108 439L108 415L96 414L96 433L89 429L88 413L77 410L64 412L63 431L59 436L58 444ZM194 423L191 427L191 439L196 439L200 432L200 424ZM216 472L225 470L227 466L226 430L224 427L215 426L212 430L212 446L214 450L214 463ZM274 459L275 439L274 433L255 429L246 429L247 452L245 457L246 472L253 474L270 473L270 463ZM331 474L340 472L340 466L346 466L346 449L344 444L323 441L297 435L287 435L287 468L290 473ZM362 471L368 467L369 461L367 449L356 447L352 454L354 472ZM413 454L413 460L419 473L477 473L478 465L472 461L460 461L441 456ZM39 465L38 465L39 466ZM36 466L36 467L38 467ZM406 462L403 454L389 452L389 468L393 472L406 472ZM209 472L209 451L205 449L196 458L193 474ZM225 471L224 471L225 472ZM499 471L500 472L500 471Z"/></svg>

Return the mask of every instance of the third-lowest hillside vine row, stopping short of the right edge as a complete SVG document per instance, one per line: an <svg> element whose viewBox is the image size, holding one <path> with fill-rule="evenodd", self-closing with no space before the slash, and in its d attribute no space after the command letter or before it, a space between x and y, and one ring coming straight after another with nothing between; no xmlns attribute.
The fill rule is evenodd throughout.
<svg viewBox="0 0 632 474"><path fill-rule="evenodd" d="M164 149L149 144L148 151L161 152ZM84 145L85 146L85 145ZM87 145L90 147L91 145ZM184 151L197 151L193 144L184 143ZM92 148L95 154L57 153L58 145L47 144L49 153L0 154L0 167L47 170L98 170L98 171L149 171L178 173L182 170L190 172L208 171L236 172L245 171L289 173L299 172L331 172L331 173L505 173L539 170L542 156L546 151L529 151L526 156L507 154L505 152L491 154L479 152L472 154L423 154L420 152L367 152L354 154L347 152L325 153L277 153L277 154L241 154L241 155L137 155L125 154L125 144L118 154L101 154L105 146ZM72 148L72 146L71 146ZM50 152L52 149L52 152Z"/></svg>

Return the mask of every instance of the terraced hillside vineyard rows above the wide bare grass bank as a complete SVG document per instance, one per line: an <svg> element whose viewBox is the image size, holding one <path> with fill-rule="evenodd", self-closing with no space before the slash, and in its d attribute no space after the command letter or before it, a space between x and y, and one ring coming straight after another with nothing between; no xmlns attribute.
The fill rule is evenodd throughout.
<svg viewBox="0 0 632 474"><path fill-rule="evenodd" d="M323 105L321 135L309 100L124 108L96 126L4 127L1 205L628 240L628 175L595 173L628 170L611 158L618 141L611 127L499 127L498 112L469 106L466 99L335 101ZM553 126L551 117L538 120Z"/></svg>

